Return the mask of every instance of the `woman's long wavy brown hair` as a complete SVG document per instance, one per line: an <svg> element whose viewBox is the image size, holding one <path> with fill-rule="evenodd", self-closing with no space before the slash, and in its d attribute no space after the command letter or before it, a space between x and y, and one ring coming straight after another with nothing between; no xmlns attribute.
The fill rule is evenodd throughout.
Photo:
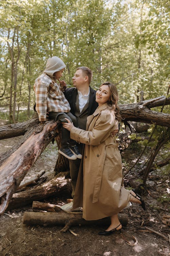
<svg viewBox="0 0 170 256"><path fill-rule="evenodd" d="M109 101L107 101L108 109L114 111L116 119L120 122L122 118L121 118L121 115L120 115L119 106L117 104L119 97L118 97L118 91L117 91L116 85L114 85L110 82L105 82L102 85L108 85L108 87L109 87L110 94L111 94L111 99L109 99Z"/></svg>

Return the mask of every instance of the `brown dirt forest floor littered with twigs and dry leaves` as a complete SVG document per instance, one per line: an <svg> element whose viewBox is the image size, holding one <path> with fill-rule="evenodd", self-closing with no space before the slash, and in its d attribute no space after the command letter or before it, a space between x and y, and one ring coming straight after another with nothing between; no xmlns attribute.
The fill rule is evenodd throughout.
<svg viewBox="0 0 170 256"><path fill-rule="evenodd" d="M1 120L1 126L5 123ZM9 150L20 137L0 141L0 154ZM45 170L48 180L54 177L56 161L56 143L50 143L41 154L35 165L28 172L27 180L35 173ZM123 162L137 158L136 150L122 154ZM151 181L153 182L153 181ZM6 211L0 217L0 256L163 256L170 255L169 242L155 233L149 232L150 227L168 238L168 226L162 223L163 214L168 214L168 203L160 203L156 199L166 192L167 187L156 188L150 195L144 196L147 210L136 204L123 211L128 214L129 224L122 228L121 234L114 233L108 237L98 235L98 226L74 226L65 233L62 226L27 226L22 224L24 211L32 211L31 206ZM53 198L50 202L62 205L67 198ZM46 202L48 200L46 199ZM170 233L170 232L169 232ZM135 243L132 246L126 243Z"/></svg>

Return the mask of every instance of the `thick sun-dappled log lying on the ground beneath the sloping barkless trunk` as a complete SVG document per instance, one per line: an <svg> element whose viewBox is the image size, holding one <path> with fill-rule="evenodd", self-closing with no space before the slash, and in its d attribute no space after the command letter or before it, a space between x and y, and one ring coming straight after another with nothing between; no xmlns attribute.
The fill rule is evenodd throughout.
<svg viewBox="0 0 170 256"><path fill-rule="evenodd" d="M54 195L67 195L71 197L72 187L67 176L68 172L59 173L54 179L41 186L13 194L7 210L23 207L35 200L42 200Z"/></svg>

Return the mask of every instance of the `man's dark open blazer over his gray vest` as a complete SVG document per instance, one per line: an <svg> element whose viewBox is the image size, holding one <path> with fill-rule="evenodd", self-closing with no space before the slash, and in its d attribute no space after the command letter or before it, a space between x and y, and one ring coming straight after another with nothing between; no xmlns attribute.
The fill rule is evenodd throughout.
<svg viewBox="0 0 170 256"><path fill-rule="evenodd" d="M75 87L67 88L64 92L66 99L68 100L71 108L71 113L74 115L75 111L75 101L77 97L77 89ZM89 106L88 106L88 116L92 115L98 107L96 102L96 91L90 87L89 95Z"/></svg>

